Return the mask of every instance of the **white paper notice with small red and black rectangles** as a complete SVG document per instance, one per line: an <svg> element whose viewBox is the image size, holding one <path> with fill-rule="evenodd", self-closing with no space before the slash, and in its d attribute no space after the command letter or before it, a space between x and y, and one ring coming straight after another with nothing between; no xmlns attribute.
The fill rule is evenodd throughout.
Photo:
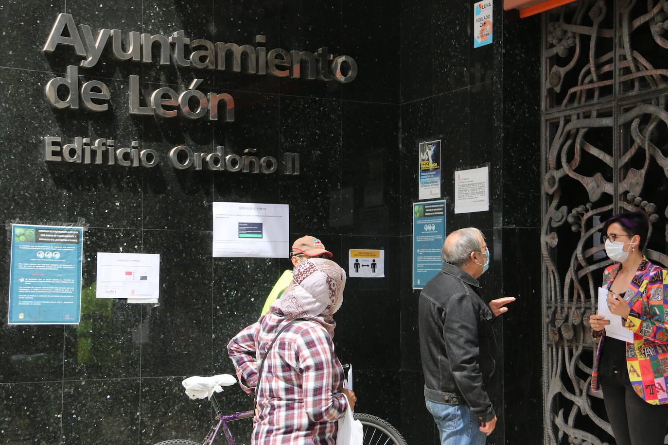
<svg viewBox="0 0 668 445"><path fill-rule="evenodd" d="M160 255L98 252L98 298L127 298L128 303L157 303Z"/></svg>

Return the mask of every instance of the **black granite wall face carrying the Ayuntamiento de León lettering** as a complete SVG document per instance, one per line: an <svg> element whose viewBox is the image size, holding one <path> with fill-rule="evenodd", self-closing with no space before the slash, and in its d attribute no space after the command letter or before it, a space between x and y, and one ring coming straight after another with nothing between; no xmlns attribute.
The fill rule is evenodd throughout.
<svg viewBox="0 0 668 445"><path fill-rule="evenodd" d="M53 109L45 83L79 57L41 51L57 14L124 33L254 43L354 57L357 79L277 79L230 72L114 61L106 49L80 81L111 91L110 110ZM344 267L351 248L385 249L386 278L350 279L337 320L341 360L353 362L358 409L400 423L399 412L399 5L394 2L238 0L142 2L5 1L0 5L0 220L89 225L84 245L82 323L0 329L0 442L152 444L201 440L208 404L191 401L184 376L233 373L228 340L259 316L288 260L211 258L212 202L290 205L291 239L323 240ZM360 17L365 17L364 21ZM230 93L233 122L156 119L128 113L128 76L144 97L204 78L202 91ZM151 169L46 163L46 135L132 140L163 158ZM176 145L194 151L225 145L242 153L301 154L301 175L176 171L164 159ZM409 213L406 213L409 215ZM1 244L0 289L7 290L9 236ZM161 256L160 304L96 300L96 252ZM7 298L0 303L7 314ZM6 318L5 318L6 320ZM252 400L224 392L231 409ZM243 434L250 422L240 427ZM244 438L238 443L244 442Z"/></svg>

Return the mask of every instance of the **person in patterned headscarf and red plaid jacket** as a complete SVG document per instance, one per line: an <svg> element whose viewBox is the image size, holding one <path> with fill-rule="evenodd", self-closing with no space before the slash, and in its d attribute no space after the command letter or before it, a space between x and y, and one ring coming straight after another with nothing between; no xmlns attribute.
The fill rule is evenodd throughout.
<svg viewBox="0 0 668 445"><path fill-rule="evenodd" d="M334 445L337 420L355 394L343 389L334 352L333 314L343 302L345 272L324 258L303 261L281 300L227 345L241 388L257 395L253 445ZM277 337L269 354L269 345ZM258 366L263 364L257 388Z"/></svg>

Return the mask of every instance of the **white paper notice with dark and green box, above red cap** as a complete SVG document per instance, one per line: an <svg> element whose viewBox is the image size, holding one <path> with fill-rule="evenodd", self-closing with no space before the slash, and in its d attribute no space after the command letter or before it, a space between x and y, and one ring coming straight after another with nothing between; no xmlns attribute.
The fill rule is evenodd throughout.
<svg viewBox="0 0 668 445"><path fill-rule="evenodd" d="M289 205L213 203L213 256L289 258Z"/></svg>

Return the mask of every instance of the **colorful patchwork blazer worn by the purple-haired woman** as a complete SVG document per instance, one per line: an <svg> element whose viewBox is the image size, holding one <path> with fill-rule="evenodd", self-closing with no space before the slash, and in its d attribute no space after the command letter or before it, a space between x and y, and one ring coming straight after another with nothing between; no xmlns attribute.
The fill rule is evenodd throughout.
<svg viewBox="0 0 668 445"><path fill-rule="evenodd" d="M621 264L615 263L603 272L603 288L609 289ZM643 262L629 284L624 300L631 314L624 325L633 331L633 344L627 343L627 370L635 392L653 405L668 404L668 271ZM605 330L593 331L600 337L591 388L599 390L599 360L601 346L605 341Z"/></svg>

